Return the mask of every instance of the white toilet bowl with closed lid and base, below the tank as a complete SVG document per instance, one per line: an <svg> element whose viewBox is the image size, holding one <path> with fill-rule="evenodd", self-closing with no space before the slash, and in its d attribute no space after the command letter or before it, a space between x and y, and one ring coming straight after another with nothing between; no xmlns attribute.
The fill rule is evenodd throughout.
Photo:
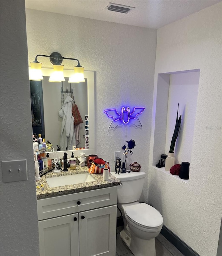
<svg viewBox="0 0 222 256"><path fill-rule="evenodd" d="M160 234L163 217L146 203L122 204L124 229L120 237L135 256L156 256L155 237Z"/></svg>

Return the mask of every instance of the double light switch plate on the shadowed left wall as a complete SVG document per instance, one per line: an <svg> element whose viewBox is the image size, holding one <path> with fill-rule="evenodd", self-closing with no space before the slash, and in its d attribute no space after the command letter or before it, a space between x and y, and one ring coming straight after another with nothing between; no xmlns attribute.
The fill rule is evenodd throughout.
<svg viewBox="0 0 222 256"><path fill-rule="evenodd" d="M27 181L27 163L25 160L2 161L3 182Z"/></svg>

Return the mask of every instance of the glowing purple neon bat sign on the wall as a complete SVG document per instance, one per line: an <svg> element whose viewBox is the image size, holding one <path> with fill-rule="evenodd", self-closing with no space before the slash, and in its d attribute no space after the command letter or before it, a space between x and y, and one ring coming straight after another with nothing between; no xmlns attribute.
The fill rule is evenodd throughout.
<svg viewBox="0 0 222 256"><path fill-rule="evenodd" d="M112 118L112 122L110 123L110 128L116 128L119 125L123 124L132 124L142 127L138 115L140 115L145 110L145 107L134 107L133 110L130 110L129 107L122 107L120 113L118 113L117 109L106 109L104 113L108 115L108 117Z"/></svg>

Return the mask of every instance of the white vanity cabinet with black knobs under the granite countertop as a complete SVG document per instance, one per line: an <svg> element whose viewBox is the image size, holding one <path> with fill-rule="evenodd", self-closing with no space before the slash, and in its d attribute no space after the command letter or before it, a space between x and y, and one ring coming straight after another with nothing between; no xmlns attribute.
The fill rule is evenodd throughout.
<svg viewBox="0 0 222 256"><path fill-rule="evenodd" d="M116 205L116 186L37 200L40 256L115 256Z"/></svg>

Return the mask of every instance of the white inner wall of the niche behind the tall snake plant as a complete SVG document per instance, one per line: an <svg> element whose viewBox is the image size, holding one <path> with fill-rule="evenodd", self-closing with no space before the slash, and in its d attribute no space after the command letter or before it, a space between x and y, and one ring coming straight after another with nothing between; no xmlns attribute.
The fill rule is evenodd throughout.
<svg viewBox="0 0 222 256"><path fill-rule="evenodd" d="M190 162L191 160L198 85L199 72L186 72L170 75L166 142L165 152L163 153L168 154L170 150L179 103L178 117L181 115L181 126L174 147L174 153L177 156L176 163L179 164L181 162Z"/></svg>

